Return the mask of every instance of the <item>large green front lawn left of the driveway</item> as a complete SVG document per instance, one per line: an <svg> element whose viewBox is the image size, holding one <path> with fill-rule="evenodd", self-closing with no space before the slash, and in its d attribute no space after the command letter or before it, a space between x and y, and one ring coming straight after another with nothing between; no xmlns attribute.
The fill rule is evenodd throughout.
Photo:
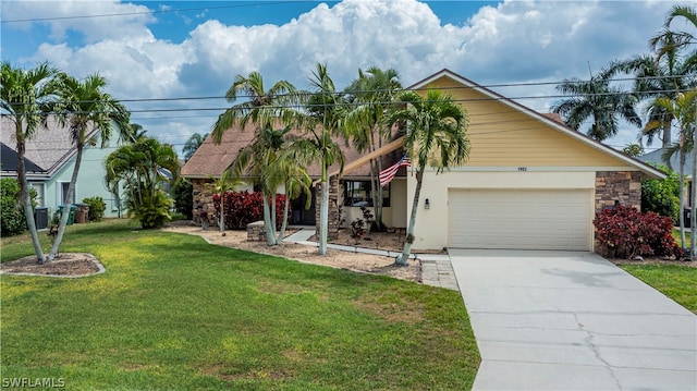
<svg viewBox="0 0 697 391"><path fill-rule="evenodd" d="M62 378L68 389L463 390L479 365L455 291L127 221L73 225L62 251L91 253L107 272L1 277L3 379ZM26 236L2 240L2 261L30 254Z"/></svg>

